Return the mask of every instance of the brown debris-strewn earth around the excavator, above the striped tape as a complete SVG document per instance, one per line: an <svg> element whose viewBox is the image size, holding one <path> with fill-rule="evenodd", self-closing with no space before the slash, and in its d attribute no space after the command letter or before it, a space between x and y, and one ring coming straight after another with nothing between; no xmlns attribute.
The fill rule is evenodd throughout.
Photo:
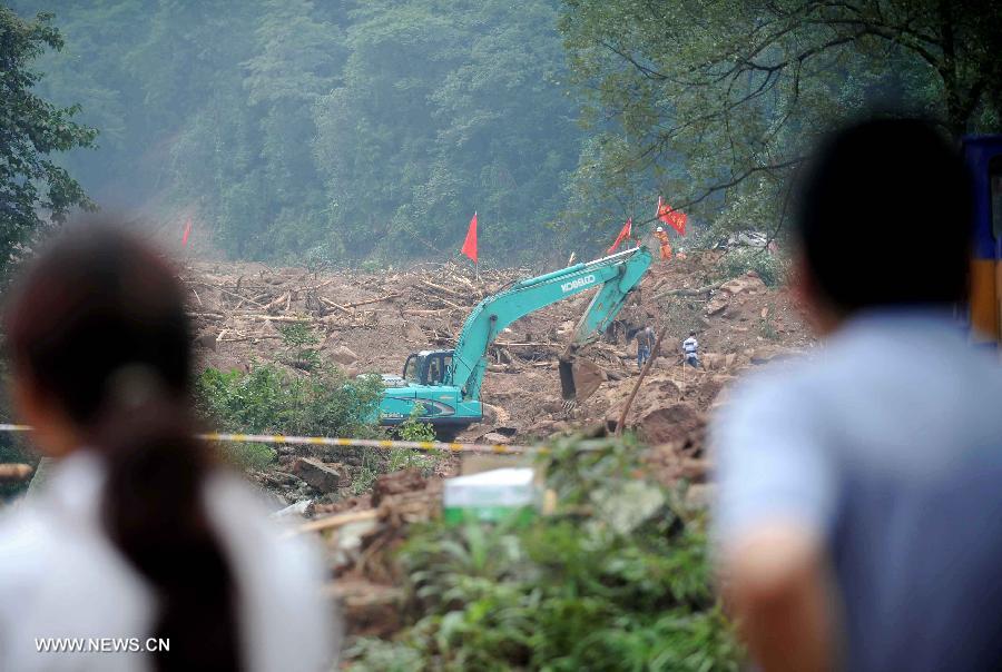
<svg viewBox="0 0 1002 672"><path fill-rule="evenodd" d="M694 253L668 264L656 263L630 304L619 315L616 334L581 354L603 378L573 417L563 413L557 356L590 294L554 304L514 323L490 350L492 364L483 384L484 423L460 441L524 443L576 426L607 419L629 394L637 375L636 340L626 334L650 324L667 326L661 356L641 388L628 422L642 417L648 397L667 396L706 409L730 376L779 353L812 343L785 289L766 287L754 275L720 284L716 268L721 251ZM276 362L282 344L278 325L301 320L320 336L320 354L350 374L401 372L412 353L450 347L477 300L508 281L530 277L528 269L482 274L458 266L419 266L383 273L310 273L272 269L261 264L193 263L185 278L199 328L205 366L247 369L255 362ZM713 287L711 289L706 289ZM700 291L700 288L704 290ZM705 372L680 368L679 346L696 330ZM671 382L671 394L665 387ZM613 414L615 415L615 414ZM501 432L497 432L501 429ZM658 436L648 436L657 442Z"/></svg>

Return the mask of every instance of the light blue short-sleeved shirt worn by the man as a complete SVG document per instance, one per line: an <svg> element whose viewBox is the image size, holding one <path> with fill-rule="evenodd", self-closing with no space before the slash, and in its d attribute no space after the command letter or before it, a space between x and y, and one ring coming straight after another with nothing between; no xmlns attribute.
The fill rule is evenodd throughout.
<svg viewBox="0 0 1002 672"><path fill-rule="evenodd" d="M825 540L846 670L1002 664L1002 375L937 313L853 319L715 418L715 536Z"/></svg>

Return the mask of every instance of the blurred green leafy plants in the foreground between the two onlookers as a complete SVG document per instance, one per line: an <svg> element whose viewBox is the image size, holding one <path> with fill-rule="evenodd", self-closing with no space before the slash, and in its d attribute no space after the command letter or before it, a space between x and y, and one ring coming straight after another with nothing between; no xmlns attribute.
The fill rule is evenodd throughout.
<svg viewBox="0 0 1002 672"><path fill-rule="evenodd" d="M357 642L353 670L737 669L701 514L637 478L629 439L551 447L552 515L412 533L400 559L420 616Z"/></svg>

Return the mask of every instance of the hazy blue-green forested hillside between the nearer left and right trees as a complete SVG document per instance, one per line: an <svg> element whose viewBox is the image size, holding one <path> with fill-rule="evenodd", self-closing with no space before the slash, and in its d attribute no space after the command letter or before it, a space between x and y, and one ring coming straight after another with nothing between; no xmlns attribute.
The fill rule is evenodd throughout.
<svg viewBox="0 0 1002 672"><path fill-rule="evenodd" d="M21 13L51 0L17 0ZM101 205L288 260L549 251L577 161L557 0L87 0L39 90L82 105ZM209 234L210 233L210 234ZM204 249L204 247L203 247ZM439 251L442 250L442 251Z"/></svg>

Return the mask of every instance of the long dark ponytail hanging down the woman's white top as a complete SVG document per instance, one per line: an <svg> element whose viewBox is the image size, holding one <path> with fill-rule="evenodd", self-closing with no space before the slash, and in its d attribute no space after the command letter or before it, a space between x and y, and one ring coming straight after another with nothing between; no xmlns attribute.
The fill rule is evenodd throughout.
<svg viewBox="0 0 1002 672"><path fill-rule="evenodd" d="M238 670L237 586L203 504L210 464L184 399L141 368L114 379L95 442L107 456L108 535L158 595L157 670ZM121 401L118 401L121 399Z"/></svg>

